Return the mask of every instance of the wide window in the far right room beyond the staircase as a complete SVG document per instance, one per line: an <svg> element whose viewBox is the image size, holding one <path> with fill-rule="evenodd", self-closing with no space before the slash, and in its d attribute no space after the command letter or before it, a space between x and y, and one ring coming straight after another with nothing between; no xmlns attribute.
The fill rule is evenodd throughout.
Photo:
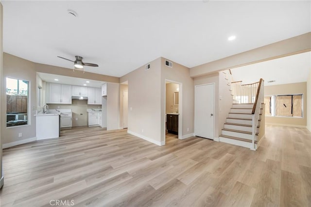
<svg viewBox="0 0 311 207"><path fill-rule="evenodd" d="M266 116L302 117L303 96L299 95L278 95L265 96Z"/></svg>

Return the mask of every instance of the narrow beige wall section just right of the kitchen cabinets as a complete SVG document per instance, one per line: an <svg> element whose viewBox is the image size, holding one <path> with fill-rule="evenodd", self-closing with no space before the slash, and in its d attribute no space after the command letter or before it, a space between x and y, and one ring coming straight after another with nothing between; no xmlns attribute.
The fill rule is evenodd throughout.
<svg viewBox="0 0 311 207"><path fill-rule="evenodd" d="M107 83L107 130L119 129L120 84Z"/></svg>

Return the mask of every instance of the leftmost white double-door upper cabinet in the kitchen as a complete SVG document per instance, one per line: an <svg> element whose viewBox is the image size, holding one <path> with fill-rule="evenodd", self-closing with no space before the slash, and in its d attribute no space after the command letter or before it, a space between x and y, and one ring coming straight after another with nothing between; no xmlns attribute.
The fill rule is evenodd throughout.
<svg viewBox="0 0 311 207"><path fill-rule="evenodd" d="M71 104L71 85L47 83L47 103L49 104Z"/></svg>

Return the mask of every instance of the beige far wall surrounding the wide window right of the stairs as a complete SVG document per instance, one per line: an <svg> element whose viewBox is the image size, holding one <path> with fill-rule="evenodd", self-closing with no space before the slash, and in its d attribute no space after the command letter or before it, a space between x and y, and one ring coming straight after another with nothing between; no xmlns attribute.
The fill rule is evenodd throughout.
<svg viewBox="0 0 311 207"><path fill-rule="evenodd" d="M272 85L264 87L264 96L303 94L303 118L266 116L266 124L307 126L307 82Z"/></svg>

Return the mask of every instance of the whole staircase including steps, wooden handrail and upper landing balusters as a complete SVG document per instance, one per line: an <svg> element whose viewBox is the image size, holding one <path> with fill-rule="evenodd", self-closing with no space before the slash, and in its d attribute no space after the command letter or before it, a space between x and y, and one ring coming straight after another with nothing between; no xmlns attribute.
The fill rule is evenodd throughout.
<svg viewBox="0 0 311 207"><path fill-rule="evenodd" d="M229 72L231 75L231 71ZM246 85L242 85L241 82L230 82L233 104L219 136L219 141L257 150L264 108L264 81L260 79L259 82Z"/></svg>

